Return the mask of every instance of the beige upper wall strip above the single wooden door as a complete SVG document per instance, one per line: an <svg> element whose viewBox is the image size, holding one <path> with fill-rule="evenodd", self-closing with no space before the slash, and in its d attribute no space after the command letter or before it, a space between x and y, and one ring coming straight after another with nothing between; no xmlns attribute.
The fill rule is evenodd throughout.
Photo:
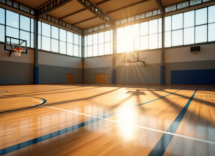
<svg viewBox="0 0 215 156"><path fill-rule="evenodd" d="M39 51L39 64L59 67L82 68L82 59Z"/></svg>

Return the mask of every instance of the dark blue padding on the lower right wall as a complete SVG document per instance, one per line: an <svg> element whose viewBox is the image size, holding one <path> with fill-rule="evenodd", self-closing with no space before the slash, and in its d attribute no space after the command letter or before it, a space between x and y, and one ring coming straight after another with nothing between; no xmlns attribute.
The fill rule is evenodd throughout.
<svg viewBox="0 0 215 156"><path fill-rule="evenodd" d="M171 84L215 85L215 69L173 70Z"/></svg>

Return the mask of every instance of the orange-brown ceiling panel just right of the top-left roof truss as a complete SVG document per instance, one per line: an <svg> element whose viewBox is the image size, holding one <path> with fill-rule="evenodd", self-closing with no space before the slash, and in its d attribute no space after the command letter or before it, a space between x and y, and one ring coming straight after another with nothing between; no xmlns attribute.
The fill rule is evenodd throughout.
<svg viewBox="0 0 215 156"><path fill-rule="evenodd" d="M67 3L66 5L63 5L62 7L50 12L49 15L52 15L56 18L61 18L73 12L79 11L81 9L84 9L84 6L81 5L78 1L73 0Z"/></svg>

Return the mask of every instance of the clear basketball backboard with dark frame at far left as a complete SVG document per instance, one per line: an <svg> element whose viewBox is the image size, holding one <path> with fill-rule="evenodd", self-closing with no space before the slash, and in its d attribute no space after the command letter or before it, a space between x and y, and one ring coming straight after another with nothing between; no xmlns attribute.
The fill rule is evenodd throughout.
<svg viewBox="0 0 215 156"><path fill-rule="evenodd" d="M16 48L16 46L21 46L21 48L23 49L22 53L27 54L28 51L26 40L5 36L4 50L9 51L11 55L11 53L14 52L14 48Z"/></svg>

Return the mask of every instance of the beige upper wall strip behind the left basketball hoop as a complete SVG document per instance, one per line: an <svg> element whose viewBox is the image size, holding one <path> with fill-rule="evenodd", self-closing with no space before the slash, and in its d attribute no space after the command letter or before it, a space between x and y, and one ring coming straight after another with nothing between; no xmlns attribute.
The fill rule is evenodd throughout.
<svg viewBox="0 0 215 156"><path fill-rule="evenodd" d="M9 51L4 51L4 44L0 44L0 60L20 62L20 63L34 63L34 50L28 49L28 54L21 54L20 57L15 56L14 53L9 57Z"/></svg>

